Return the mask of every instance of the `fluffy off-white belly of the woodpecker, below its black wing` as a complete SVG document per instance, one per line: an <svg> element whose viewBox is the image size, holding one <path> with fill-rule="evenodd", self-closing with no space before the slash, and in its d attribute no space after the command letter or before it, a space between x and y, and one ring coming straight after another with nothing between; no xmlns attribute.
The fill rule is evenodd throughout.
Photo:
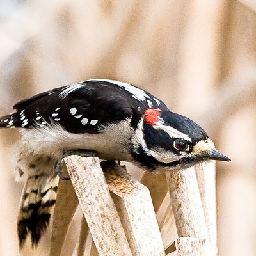
<svg viewBox="0 0 256 256"><path fill-rule="evenodd" d="M134 130L127 122L129 120L118 125L108 125L97 134L73 134L65 131L60 125L22 129L22 151L60 159L63 151L86 149L95 150L100 159L131 161L129 143Z"/></svg>

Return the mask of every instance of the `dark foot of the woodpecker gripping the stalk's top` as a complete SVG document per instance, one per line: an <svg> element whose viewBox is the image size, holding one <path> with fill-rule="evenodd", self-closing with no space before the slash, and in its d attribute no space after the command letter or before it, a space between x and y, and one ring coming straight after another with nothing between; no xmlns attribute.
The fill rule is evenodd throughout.
<svg viewBox="0 0 256 256"><path fill-rule="evenodd" d="M60 177L61 180L70 180L69 177L63 176L62 163L65 157L72 156L72 155L81 156L81 157L88 157L88 156L95 157L96 152L93 150L84 150L84 149L68 150L64 152L64 154L61 156L60 161L58 161L58 163L56 164L56 168L55 168L55 173Z"/></svg>

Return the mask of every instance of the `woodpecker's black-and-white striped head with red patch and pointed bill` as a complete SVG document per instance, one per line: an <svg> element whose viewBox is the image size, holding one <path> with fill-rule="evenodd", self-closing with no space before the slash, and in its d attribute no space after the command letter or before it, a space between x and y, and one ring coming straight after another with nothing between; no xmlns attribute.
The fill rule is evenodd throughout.
<svg viewBox="0 0 256 256"><path fill-rule="evenodd" d="M132 148L134 159L154 172L185 169L209 160L230 161L198 124L161 109L145 111Z"/></svg>

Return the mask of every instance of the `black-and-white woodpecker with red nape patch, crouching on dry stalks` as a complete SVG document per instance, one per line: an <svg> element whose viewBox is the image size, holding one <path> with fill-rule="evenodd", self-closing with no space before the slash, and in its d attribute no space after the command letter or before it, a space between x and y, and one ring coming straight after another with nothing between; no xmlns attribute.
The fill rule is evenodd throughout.
<svg viewBox="0 0 256 256"><path fill-rule="evenodd" d="M13 106L1 128L17 128L15 170L24 189L17 220L19 246L37 245L56 201L61 159L89 150L102 160L128 161L150 173L230 161L198 124L173 113L132 84L90 79L54 88Z"/></svg>

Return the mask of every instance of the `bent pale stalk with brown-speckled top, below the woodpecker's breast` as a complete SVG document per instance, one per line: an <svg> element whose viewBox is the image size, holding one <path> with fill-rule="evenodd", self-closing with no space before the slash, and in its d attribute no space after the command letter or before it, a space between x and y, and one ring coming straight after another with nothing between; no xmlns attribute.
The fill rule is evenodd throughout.
<svg viewBox="0 0 256 256"><path fill-rule="evenodd" d="M114 161L102 162L132 256L165 255L148 188Z"/></svg>

